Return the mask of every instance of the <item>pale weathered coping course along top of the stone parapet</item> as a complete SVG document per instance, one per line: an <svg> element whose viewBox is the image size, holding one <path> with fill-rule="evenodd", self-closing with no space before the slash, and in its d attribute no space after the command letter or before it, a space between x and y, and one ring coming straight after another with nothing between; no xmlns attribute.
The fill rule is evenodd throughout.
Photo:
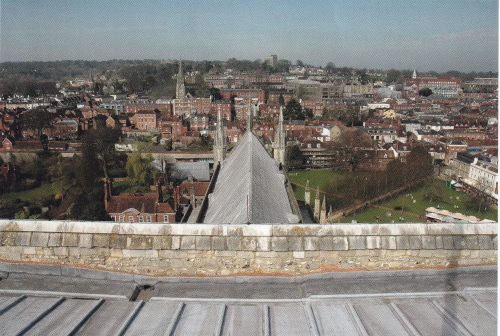
<svg viewBox="0 0 500 336"><path fill-rule="evenodd" d="M152 224L0 220L0 232L87 233L149 236L441 236L497 235L498 224Z"/></svg>

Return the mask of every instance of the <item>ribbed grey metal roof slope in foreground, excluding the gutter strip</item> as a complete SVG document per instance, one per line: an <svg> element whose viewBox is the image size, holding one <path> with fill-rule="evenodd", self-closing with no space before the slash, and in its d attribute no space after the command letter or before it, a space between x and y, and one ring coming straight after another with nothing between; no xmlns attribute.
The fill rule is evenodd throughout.
<svg viewBox="0 0 500 336"><path fill-rule="evenodd" d="M496 289L296 300L0 296L0 335L496 335Z"/></svg>

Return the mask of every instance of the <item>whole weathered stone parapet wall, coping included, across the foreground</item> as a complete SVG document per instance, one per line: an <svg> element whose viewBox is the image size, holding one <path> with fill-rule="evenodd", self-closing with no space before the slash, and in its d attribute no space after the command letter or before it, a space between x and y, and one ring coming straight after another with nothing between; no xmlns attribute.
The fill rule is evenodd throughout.
<svg viewBox="0 0 500 336"><path fill-rule="evenodd" d="M497 263L497 224L0 220L0 259L156 275L306 274Z"/></svg>

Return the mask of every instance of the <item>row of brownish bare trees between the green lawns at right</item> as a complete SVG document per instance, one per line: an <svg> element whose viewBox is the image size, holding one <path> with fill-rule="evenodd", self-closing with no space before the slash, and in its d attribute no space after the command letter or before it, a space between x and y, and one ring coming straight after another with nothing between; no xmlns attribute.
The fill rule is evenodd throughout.
<svg viewBox="0 0 500 336"><path fill-rule="evenodd" d="M340 210L390 193L432 176L432 158L423 147L414 148L406 159L391 161L384 171L354 171L330 181L324 189L327 204Z"/></svg>

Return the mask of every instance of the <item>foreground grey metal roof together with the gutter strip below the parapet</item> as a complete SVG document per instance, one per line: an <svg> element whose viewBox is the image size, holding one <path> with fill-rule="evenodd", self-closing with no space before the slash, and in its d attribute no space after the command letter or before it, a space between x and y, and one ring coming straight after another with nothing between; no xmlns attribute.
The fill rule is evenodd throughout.
<svg viewBox="0 0 500 336"><path fill-rule="evenodd" d="M497 335L496 275L182 278L0 263L0 335Z"/></svg>

